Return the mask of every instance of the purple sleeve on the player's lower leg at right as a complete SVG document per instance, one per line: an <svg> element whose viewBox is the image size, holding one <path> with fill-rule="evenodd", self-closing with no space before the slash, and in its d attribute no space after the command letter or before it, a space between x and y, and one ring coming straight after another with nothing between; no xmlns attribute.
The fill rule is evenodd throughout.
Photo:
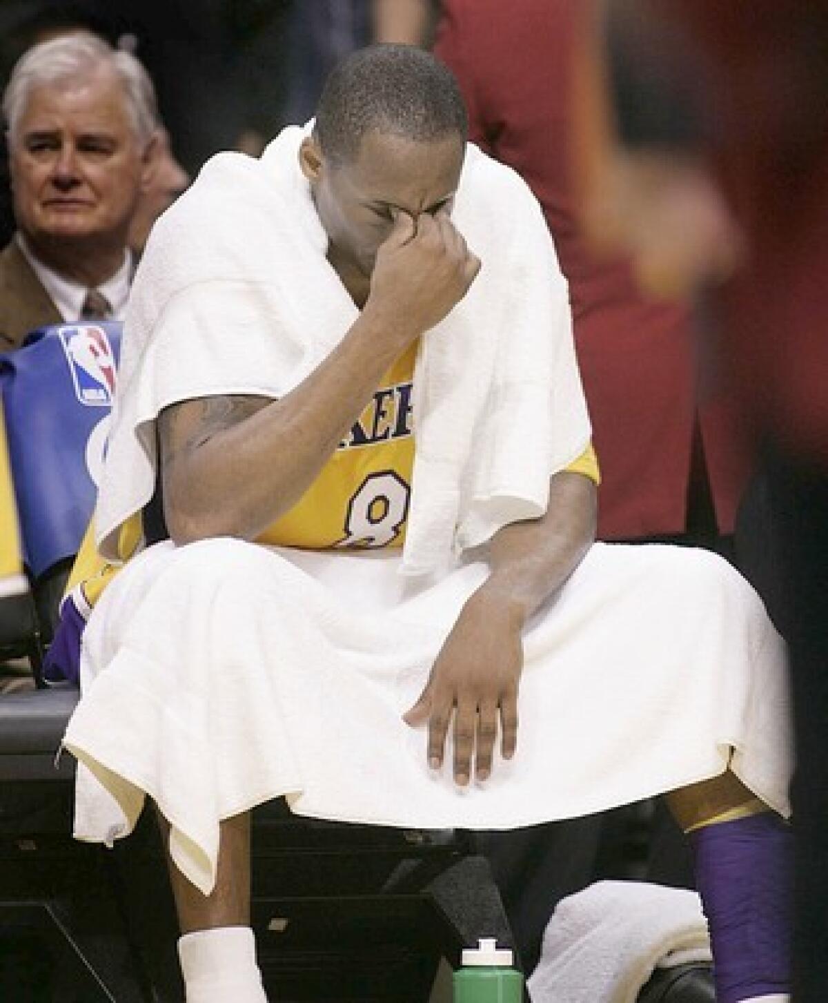
<svg viewBox="0 0 828 1003"><path fill-rule="evenodd" d="M771 811L691 833L718 1003L791 991L793 844Z"/></svg>

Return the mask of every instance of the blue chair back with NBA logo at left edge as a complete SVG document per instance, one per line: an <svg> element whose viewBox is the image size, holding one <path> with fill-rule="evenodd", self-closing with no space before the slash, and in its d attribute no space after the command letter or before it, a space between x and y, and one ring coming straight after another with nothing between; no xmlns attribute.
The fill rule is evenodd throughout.
<svg viewBox="0 0 828 1003"><path fill-rule="evenodd" d="M121 327L50 325L0 355L23 558L35 580L74 557L94 510Z"/></svg>

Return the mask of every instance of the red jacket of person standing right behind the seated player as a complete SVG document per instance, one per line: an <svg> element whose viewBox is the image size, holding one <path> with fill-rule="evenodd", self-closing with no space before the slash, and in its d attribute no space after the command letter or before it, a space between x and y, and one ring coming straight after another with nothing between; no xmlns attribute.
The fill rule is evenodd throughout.
<svg viewBox="0 0 828 1003"><path fill-rule="evenodd" d="M569 284L601 466L598 538L729 553L751 460L693 303L643 291L627 253L596 253L576 216L572 45L584 0L443 0L434 52L457 77L470 138L540 202ZM681 123L677 123L680 127Z"/></svg>

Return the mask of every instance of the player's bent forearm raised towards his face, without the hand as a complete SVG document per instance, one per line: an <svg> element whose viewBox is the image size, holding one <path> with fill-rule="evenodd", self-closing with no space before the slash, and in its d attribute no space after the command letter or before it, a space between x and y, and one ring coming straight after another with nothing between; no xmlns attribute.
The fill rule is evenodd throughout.
<svg viewBox="0 0 828 1003"><path fill-rule="evenodd" d="M285 397L175 457L164 510L176 542L255 540L299 500L404 348L405 338L388 336L388 323L364 311Z"/></svg>

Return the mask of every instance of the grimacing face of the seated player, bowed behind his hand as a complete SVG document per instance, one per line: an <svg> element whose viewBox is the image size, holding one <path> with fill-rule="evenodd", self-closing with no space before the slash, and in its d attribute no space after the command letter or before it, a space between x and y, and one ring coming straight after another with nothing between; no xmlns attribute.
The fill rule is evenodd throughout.
<svg viewBox="0 0 828 1003"><path fill-rule="evenodd" d="M451 211L465 145L451 133L431 141L373 130L357 157L311 177L317 212L336 253L370 276L380 245L400 212Z"/></svg>

